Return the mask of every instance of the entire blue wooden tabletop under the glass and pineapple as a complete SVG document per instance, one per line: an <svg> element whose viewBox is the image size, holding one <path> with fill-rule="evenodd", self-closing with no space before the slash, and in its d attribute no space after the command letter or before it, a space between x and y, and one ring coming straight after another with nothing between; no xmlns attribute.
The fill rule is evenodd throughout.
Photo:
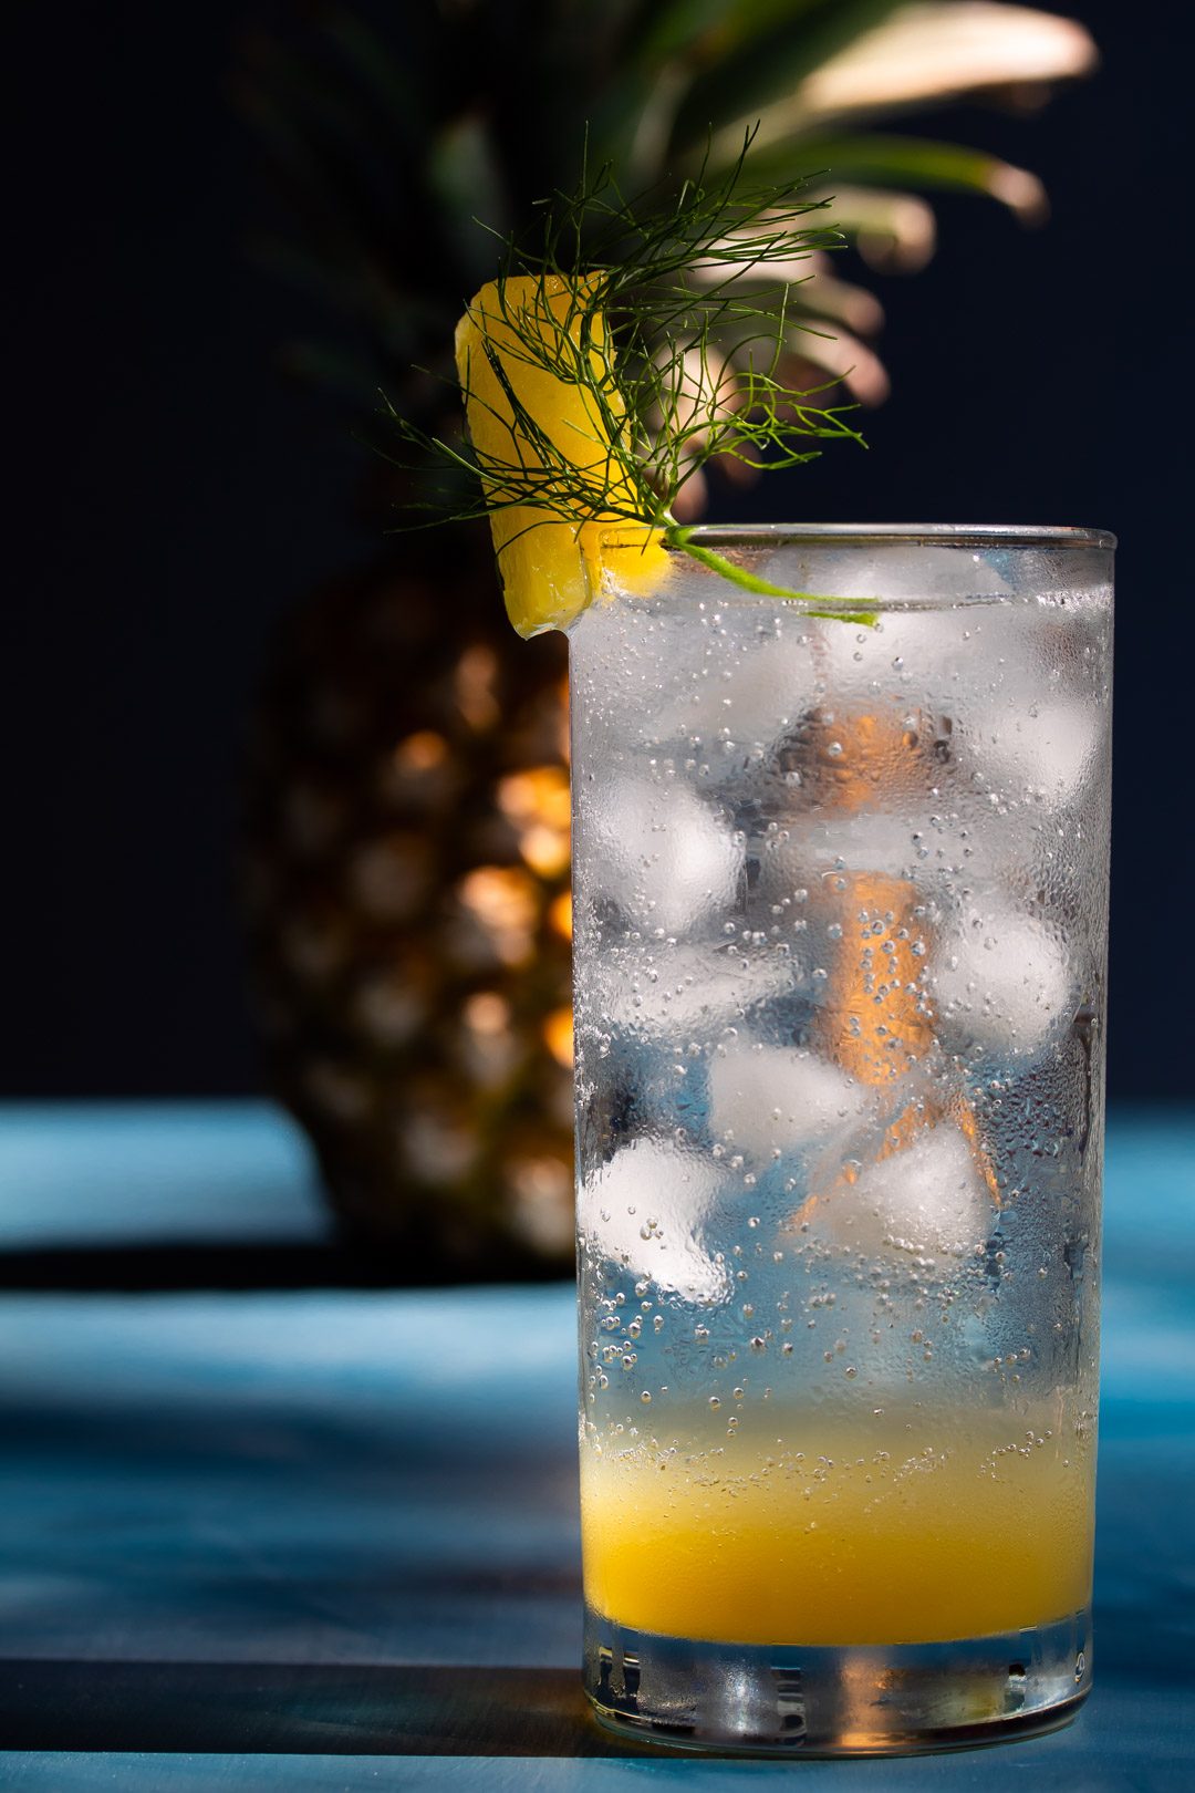
<svg viewBox="0 0 1195 1793"><path fill-rule="evenodd" d="M586 1721L572 1289L56 1293L54 1253L319 1266L322 1208L263 1104L0 1110L0 1786L1188 1793L1195 1115L1109 1131L1096 1693L1039 1741L776 1764Z"/></svg>

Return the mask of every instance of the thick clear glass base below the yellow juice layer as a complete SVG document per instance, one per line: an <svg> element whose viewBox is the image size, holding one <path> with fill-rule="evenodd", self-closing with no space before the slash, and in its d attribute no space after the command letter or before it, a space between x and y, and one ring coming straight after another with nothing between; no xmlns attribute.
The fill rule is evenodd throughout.
<svg viewBox="0 0 1195 1793"><path fill-rule="evenodd" d="M709 1644L586 1607L584 1685L640 1743L769 1755L903 1755L1070 1723L1091 1689L1091 1617L946 1644Z"/></svg>

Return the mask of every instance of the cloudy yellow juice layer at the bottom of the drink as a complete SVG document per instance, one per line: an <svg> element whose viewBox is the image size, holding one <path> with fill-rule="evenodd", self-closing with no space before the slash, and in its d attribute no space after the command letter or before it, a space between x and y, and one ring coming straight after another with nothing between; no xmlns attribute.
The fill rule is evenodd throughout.
<svg viewBox="0 0 1195 1793"><path fill-rule="evenodd" d="M770 1431L582 1443L591 1607L713 1642L921 1644L1088 1605L1095 1451L1057 1408Z"/></svg>

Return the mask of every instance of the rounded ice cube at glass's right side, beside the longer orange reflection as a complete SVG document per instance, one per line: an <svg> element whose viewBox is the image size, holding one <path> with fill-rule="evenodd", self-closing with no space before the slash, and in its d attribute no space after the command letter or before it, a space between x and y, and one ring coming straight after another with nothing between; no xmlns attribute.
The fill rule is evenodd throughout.
<svg viewBox="0 0 1195 1793"><path fill-rule="evenodd" d="M948 1049L962 1042L1025 1056L1070 1018L1071 977L1057 938L1014 909L971 909L939 936L926 966L937 1033Z"/></svg>

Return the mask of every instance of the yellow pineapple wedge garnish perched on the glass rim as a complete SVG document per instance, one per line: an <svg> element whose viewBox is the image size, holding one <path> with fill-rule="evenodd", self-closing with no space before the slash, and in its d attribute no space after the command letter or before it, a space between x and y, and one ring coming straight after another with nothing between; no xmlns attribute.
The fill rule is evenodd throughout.
<svg viewBox="0 0 1195 1793"><path fill-rule="evenodd" d="M634 507L631 484L611 455L611 434L593 382L579 382L575 375L582 305L595 278L566 282L559 274L518 274L491 280L457 325L457 373L469 437L482 470L491 470L484 484L498 504L489 513L494 554L507 615L520 635L568 628L602 590L606 574L623 590L643 592L668 567L661 531L625 520L625 509ZM600 314L589 319L589 337L591 366L600 382L609 369ZM529 342L545 346L543 360L529 359ZM534 477L545 470L545 459L520 429L487 346L537 430L575 468L591 472L591 511L564 518L536 504L502 502L500 468L514 466ZM600 389L609 412L620 416L618 394L607 378ZM611 504L620 506L622 515L609 509ZM618 525L616 543L609 541L611 525Z"/></svg>

